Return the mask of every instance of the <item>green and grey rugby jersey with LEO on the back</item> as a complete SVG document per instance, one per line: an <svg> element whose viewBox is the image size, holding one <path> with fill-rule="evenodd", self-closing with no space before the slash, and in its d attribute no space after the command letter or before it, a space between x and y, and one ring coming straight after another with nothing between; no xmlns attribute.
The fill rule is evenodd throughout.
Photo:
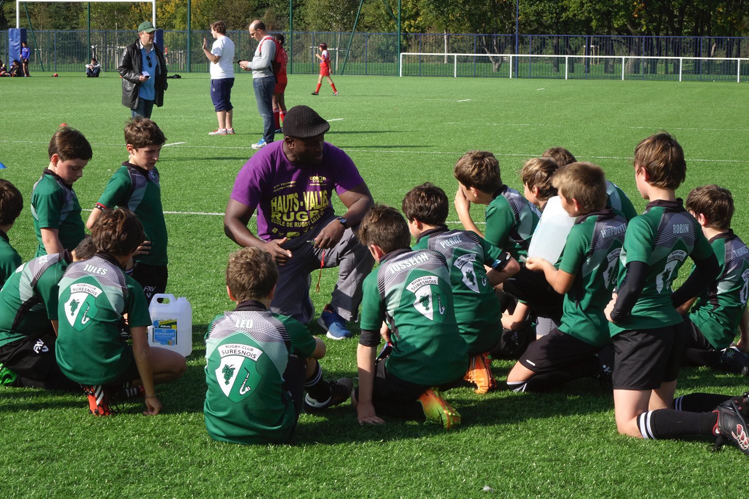
<svg viewBox="0 0 749 499"><path fill-rule="evenodd" d="M283 376L289 355L315 351L307 328L247 300L210 322L205 346L208 435L236 444L288 441L297 415Z"/></svg>

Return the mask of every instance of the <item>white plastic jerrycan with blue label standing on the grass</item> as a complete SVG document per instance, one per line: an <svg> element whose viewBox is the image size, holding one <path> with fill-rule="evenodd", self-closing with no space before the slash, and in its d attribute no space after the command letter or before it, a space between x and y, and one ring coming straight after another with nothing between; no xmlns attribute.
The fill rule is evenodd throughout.
<svg viewBox="0 0 749 499"><path fill-rule="evenodd" d="M163 299L160 303L159 299ZM178 352L183 357L192 353L192 307L184 296L157 294L148 307L151 325L148 344Z"/></svg>

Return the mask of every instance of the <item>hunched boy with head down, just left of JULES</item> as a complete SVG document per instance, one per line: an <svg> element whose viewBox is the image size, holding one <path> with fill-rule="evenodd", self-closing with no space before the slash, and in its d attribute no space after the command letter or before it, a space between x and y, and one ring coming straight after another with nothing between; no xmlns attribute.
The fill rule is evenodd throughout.
<svg viewBox="0 0 749 499"><path fill-rule="evenodd" d="M0 290L0 385L78 391L55 358L58 284L70 263L94 256L86 236L73 251L24 263Z"/></svg>

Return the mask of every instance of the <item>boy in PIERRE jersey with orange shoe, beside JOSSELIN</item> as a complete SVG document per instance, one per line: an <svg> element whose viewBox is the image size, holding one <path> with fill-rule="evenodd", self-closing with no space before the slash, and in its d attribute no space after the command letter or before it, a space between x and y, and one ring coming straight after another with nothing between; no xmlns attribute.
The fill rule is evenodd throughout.
<svg viewBox="0 0 749 499"><path fill-rule="evenodd" d="M431 183L411 189L402 209L416 237L413 250L437 251L447 260L455 321L468 344L470 362L464 379L477 386L477 394L485 394L497 386L491 375L491 356L503 353L502 312L494 286L518 272L520 265L476 233L449 230L449 200ZM484 266L491 269L486 272Z"/></svg>

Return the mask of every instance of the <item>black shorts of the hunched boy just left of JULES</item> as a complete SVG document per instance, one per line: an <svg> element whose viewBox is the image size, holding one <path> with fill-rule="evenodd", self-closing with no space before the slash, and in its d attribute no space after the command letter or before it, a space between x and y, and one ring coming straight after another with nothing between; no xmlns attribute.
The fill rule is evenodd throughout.
<svg viewBox="0 0 749 499"><path fill-rule="evenodd" d="M0 363L25 378L46 380L52 368L57 367L57 335L51 327L50 331L31 334L0 346Z"/></svg>

